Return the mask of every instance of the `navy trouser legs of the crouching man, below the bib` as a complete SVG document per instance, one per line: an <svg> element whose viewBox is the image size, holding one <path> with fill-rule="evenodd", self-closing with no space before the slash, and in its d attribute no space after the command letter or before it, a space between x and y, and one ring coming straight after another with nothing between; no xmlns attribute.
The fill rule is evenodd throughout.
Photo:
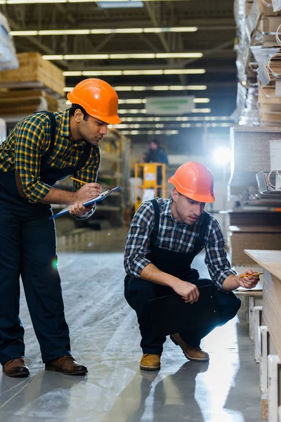
<svg viewBox="0 0 281 422"><path fill-rule="evenodd" d="M190 283L194 283L197 287L206 286L212 284L209 279L195 279L190 280ZM166 341L166 337L157 337L154 331L152 317L148 308L148 301L159 298L164 295L175 293L169 287L160 286L159 284L151 283L143 279L137 279L136 277L126 276L125 279L125 298L129 305L136 311L138 316L138 324L141 331L141 348L143 353L161 354L163 350L163 344ZM218 309L218 316L220 323L217 325L226 324L227 321L233 319L237 314L241 301L234 293L223 293L217 288L214 288L214 295L216 298L216 305ZM191 305L192 306L192 305ZM216 326L209 325L202 328L191 329L181 332L181 337L185 340L185 343L192 347L200 345L200 341L208 333L214 330Z"/></svg>

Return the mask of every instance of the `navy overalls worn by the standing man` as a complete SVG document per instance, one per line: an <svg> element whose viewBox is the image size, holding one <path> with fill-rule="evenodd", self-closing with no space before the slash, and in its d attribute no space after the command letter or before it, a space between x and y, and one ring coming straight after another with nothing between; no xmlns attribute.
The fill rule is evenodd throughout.
<svg viewBox="0 0 281 422"><path fill-rule="evenodd" d="M56 181L81 170L91 145L74 167L54 169L46 159L55 143L55 117L51 121L48 151L41 159L41 181ZM48 119L46 116L46 119ZM43 362L70 354L60 276L57 270L55 225L51 205L29 203L18 193L14 170L0 172L0 362L25 356L24 328L19 317L22 277L27 306L41 348Z"/></svg>

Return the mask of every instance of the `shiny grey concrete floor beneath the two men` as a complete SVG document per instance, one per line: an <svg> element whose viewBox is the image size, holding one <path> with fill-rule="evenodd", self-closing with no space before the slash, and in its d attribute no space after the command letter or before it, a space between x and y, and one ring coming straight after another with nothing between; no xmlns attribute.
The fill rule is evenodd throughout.
<svg viewBox="0 0 281 422"><path fill-rule="evenodd" d="M139 370L135 313L123 297L123 257L60 254L72 354L87 376L44 371L22 297L31 376L0 374L2 422L261 422L259 366L244 314L203 340L210 362L188 362L167 339L159 372ZM205 276L202 255L197 260Z"/></svg>

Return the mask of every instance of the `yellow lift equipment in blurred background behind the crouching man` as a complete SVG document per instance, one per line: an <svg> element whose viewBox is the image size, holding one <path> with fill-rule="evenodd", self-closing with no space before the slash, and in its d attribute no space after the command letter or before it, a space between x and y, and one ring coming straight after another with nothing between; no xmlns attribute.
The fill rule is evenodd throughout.
<svg viewBox="0 0 281 422"><path fill-rule="evenodd" d="M142 184L138 184L141 178ZM140 162L135 164L135 212L138 207L155 196L163 197L166 192L166 164Z"/></svg>

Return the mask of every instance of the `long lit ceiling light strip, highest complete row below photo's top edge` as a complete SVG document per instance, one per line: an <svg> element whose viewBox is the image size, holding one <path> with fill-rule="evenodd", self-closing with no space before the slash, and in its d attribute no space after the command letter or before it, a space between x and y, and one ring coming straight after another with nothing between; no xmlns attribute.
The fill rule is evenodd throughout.
<svg viewBox="0 0 281 422"><path fill-rule="evenodd" d="M86 1L86 0L85 0ZM6 0L0 0L6 4ZM40 31L11 31L12 37L34 37L37 35L88 35L88 34L152 34L159 32L196 32L197 27L155 27L155 28L104 28L95 30L40 30Z"/></svg>

